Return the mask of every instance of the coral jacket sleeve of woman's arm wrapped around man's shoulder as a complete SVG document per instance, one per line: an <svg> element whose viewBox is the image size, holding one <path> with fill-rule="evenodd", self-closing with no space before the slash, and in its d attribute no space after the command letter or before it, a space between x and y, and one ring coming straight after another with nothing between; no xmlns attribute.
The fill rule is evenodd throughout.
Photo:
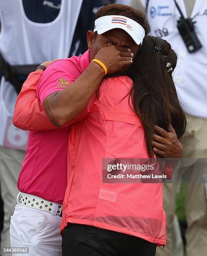
<svg viewBox="0 0 207 256"><path fill-rule="evenodd" d="M13 124L23 130L43 131L56 129L50 122L40 100L37 97L37 84L43 72L35 71L29 74L18 95Z"/></svg>

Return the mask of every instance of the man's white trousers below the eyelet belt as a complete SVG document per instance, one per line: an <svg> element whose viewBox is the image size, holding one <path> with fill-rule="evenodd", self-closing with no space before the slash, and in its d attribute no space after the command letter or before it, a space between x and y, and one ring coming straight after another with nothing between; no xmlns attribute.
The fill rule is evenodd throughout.
<svg viewBox="0 0 207 256"><path fill-rule="evenodd" d="M11 246L29 247L29 254L23 253L21 256L61 256L60 224L59 215L18 203L11 216Z"/></svg>

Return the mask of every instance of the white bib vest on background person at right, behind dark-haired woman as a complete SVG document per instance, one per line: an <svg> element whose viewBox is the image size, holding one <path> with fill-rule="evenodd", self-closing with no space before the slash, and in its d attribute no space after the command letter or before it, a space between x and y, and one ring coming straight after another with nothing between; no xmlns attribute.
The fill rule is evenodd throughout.
<svg viewBox="0 0 207 256"><path fill-rule="evenodd" d="M142 0L146 6L146 0ZM177 0L184 17L184 0ZM207 1L196 0L191 14L202 49L189 54L177 29L180 14L173 0L149 0L147 19L150 34L167 40L178 54L174 81L184 110L194 116L207 118Z"/></svg>

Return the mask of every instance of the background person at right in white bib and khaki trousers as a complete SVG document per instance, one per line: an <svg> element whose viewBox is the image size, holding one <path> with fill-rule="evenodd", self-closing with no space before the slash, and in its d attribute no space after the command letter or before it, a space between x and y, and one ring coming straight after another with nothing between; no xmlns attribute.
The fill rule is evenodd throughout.
<svg viewBox="0 0 207 256"><path fill-rule="evenodd" d="M187 113L188 129L182 140L184 158L207 158L207 1L177 0L184 18L191 18L194 31L201 42L185 45L177 28L181 14L174 0L131 0L131 6L144 11L150 34L169 41L177 52L178 65L174 80L180 101ZM191 52L190 52L191 51ZM176 184L164 184L164 209L167 213L167 246L157 250L158 256L172 256L172 222L177 195ZM204 184L186 184L185 210L187 215L187 256L207 253L207 194ZM183 252L177 254L182 255Z"/></svg>

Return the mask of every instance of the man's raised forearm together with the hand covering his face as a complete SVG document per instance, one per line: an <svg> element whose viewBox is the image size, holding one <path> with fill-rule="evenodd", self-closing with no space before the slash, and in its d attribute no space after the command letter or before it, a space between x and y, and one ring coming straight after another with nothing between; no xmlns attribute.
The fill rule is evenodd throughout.
<svg viewBox="0 0 207 256"><path fill-rule="evenodd" d="M98 51L95 59L105 65L108 74L113 74L122 67L131 65L133 56L131 49L109 43L108 46ZM56 68L58 69L58 67ZM50 121L57 127L62 127L80 115L88 105L104 75L104 68L96 62L92 62L72 85L46 97L43 108Z"/></svg>

